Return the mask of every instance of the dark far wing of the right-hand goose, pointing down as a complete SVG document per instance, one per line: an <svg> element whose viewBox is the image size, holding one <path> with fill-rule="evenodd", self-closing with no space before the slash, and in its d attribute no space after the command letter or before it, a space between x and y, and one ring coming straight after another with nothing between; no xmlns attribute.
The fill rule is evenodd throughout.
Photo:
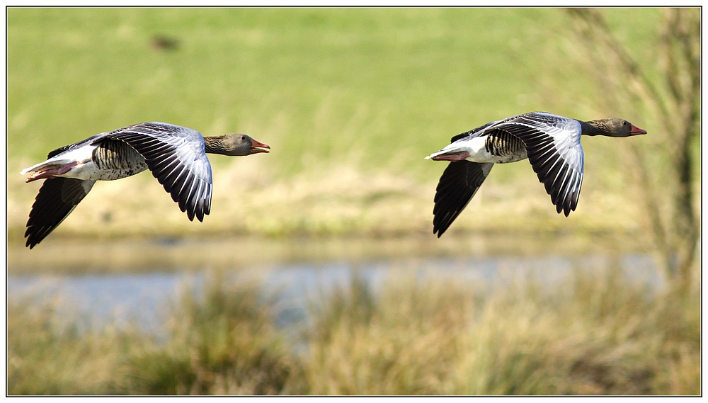
<svg viewBox="0 0 708 403"><path fill-rule="evenodd" d="M437 232L440 238L447 227L450 227L477 193L492 166L492 163L480 164L467 160L454 161L447 165L440 176L438 188L435 189L433 234Z"/></svg>

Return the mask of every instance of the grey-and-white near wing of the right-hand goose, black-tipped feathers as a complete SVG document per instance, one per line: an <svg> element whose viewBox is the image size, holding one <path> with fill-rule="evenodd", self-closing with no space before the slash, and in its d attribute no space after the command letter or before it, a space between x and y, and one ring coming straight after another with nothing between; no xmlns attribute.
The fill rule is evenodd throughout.
<svg viewBox="0 0 708 403"><path fill-rule="evenodd" d="M519 137L539 181L566 217L575 210L583 185L581 125L577 120L533 112L505 120L494 129Z"/></svg>

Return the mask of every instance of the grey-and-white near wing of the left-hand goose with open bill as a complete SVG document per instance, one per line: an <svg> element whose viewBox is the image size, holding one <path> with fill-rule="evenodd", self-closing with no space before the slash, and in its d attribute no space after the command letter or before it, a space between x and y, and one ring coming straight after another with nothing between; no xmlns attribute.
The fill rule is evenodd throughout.
<svg viewBox="0 0 708 403"><path fill-rule="evenodd" d="M139 123L105 137L122 140L144 157L152 175L189 220L202 221L212 204L212 167L196 130L168 123Z"/></svg>

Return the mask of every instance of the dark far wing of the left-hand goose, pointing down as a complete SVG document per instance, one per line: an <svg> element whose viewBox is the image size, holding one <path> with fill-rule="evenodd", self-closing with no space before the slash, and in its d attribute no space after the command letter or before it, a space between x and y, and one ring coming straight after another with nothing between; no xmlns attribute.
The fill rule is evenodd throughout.
<svg viewBox="0 0 708 403"><path fill-rule="evenodd" d="M64 221L96 181L74 178L49 178L42 183L27 220L25 246L32 249Z"/></svg>

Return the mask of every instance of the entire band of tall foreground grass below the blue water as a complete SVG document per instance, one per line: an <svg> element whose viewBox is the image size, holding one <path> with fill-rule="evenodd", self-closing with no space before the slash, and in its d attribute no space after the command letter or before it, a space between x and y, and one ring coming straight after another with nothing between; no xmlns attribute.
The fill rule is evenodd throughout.
<svg viewBox="0 0 708 403"><path fill-rule="evenodd" d="M214 276L173 306L161 341L86 332L61 302L13 298L8 393L700 393L700 293L674 300L611 269L552 290L399 276L375 292L354 278L312 298L295 338L259 288Z"/></svg>

